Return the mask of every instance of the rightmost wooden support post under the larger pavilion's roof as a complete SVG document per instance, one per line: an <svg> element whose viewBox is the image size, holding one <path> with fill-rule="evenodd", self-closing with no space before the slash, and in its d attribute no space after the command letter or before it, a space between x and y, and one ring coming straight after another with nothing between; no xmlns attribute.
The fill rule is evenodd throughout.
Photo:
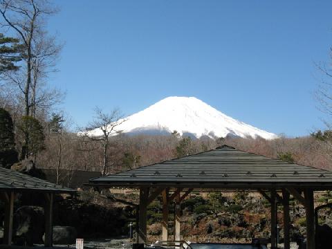
<svg viewBox="0 0 332 249"><path fill-rule="evenodd" d="M306 249L315 249L315 207L313 190L304 191L306 203Z"/></svg>

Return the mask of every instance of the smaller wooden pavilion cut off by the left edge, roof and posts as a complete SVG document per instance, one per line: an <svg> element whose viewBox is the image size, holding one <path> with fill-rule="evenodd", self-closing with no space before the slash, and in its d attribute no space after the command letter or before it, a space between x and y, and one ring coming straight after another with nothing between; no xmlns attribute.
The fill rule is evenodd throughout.
<svg viewBox="0 0 332 249"><path fill-rule="evenodd" d="M75 190L0 167L0 199L5 203L3 244L12 244L14 201L17 193L44 193L45 246L53 246L53 194L74 193Z"/></svg>

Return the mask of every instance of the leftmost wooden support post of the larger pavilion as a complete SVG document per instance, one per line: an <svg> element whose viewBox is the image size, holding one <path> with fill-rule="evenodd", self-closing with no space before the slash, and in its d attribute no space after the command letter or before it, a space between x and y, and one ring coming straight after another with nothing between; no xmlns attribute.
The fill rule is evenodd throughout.
<svg viewBox="0 0 332 249"><path fill-rule="evenodd" d="M147 199L149 198L149 187L140 187L140 212L138 222L138 243L147 242Z"/></svg>

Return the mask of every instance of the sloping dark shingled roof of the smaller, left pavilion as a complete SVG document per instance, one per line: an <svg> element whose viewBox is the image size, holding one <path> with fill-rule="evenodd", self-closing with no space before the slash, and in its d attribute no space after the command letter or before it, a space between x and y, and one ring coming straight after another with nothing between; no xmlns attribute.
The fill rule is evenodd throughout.
<svg viewBox="0 0 332 249"><path fill-rule="evenodd" d="M0 167L0 190L70 193L75 190Z"/></svg>

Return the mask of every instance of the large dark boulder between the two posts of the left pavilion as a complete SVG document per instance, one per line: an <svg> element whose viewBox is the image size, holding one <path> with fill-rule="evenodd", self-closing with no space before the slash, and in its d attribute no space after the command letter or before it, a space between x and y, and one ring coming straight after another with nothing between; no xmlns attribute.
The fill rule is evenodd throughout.
<svg viewBox="0 0 332 249"><path fill-rule="evenodd" d="M45 230L44 220L43 208L22 206L14 214L16 236L24 238L28 246L42 243Z"/></svg>

